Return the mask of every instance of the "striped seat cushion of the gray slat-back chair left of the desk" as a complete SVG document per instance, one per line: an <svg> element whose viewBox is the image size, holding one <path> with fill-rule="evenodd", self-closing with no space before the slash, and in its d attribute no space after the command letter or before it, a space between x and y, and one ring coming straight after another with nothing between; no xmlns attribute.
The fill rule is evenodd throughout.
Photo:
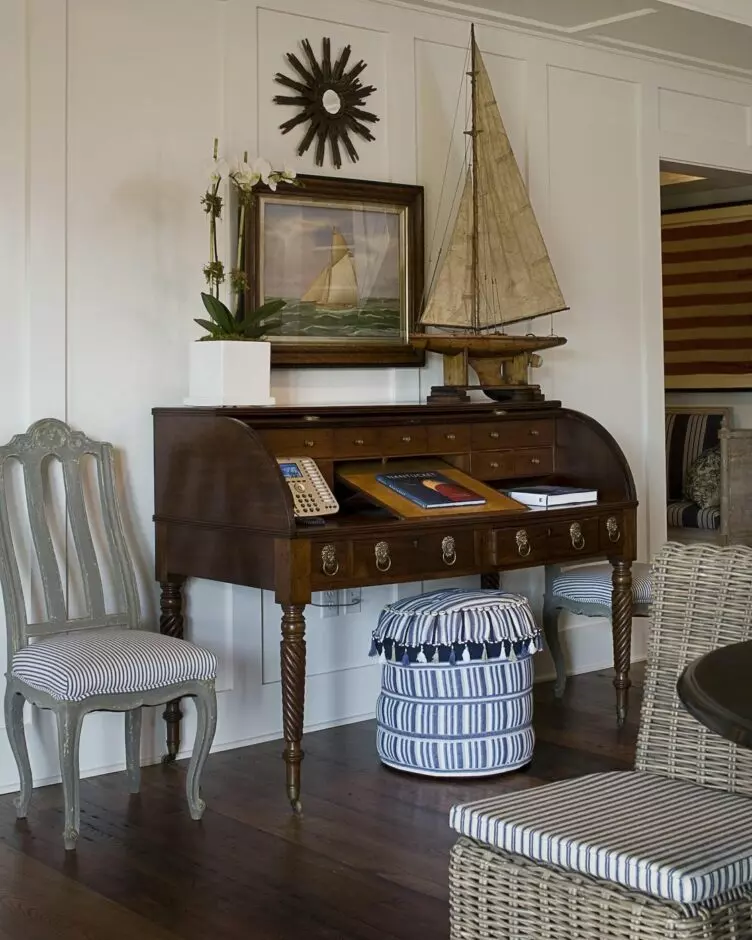
<svg viewBox="0 0 752 940"><path fill-rule="evenodd" d="M11 675L52 698L145 692L194 679L213 679L213 653L148 630L80 630L19 650Z"/></svg>

